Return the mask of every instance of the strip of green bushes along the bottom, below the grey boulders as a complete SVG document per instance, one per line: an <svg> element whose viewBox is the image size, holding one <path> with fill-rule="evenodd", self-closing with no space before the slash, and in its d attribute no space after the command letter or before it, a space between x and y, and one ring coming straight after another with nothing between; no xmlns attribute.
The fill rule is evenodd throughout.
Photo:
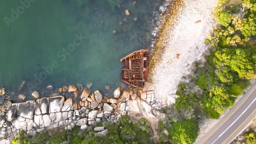
<svg viewBox="0 0 256 144"><path fill-rule="evenodd" d="M97 134L93 130L95 126L89 126L87 130L80 130L75 126L72 130L53 129L40 132L38 135L30 136L25 131L20 131L13 143L154 143L153 133L146 119L139 121L124 115L118 124L101 122L96 126L104 126L108 129L106 135Z"/></svg>

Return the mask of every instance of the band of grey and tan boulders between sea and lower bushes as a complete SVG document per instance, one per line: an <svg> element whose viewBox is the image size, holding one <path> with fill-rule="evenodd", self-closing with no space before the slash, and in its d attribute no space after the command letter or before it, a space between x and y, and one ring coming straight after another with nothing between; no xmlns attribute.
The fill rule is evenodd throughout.
<svg viewBox="0 0 256 144"><path fill-rule="evenodd" d="M76 92L78 90L80 95ZM99 90L90 94L86 88L80 89L71 85L69 88L59 88L60 92L73 92L74 98L67 100L62 95L57 95L23 103L9 101L7 116L5 117L3 106L0 111L0 143L11 143L21 130L35 135L45 129L57 127L72 129L75 125L83 130L87 129L88 125L102 120L117 123L122 115L130 115L131 112L139 113L141 106L147 116L156 118L152 114L154 109L159 109L155 104L154 84L145 82L143 89L130 88L129 90L118 87L113 93L113 98L110 99L103 97ZM32 93L34 98L39 98L38 94ZM75 98L78 96L80 101L77 102ZM7 127L4 126L6 121L8 121ZM5 129L8 132L5 132ZM107 131L104 127L96 127L94 130L101 134Z"/></svg>

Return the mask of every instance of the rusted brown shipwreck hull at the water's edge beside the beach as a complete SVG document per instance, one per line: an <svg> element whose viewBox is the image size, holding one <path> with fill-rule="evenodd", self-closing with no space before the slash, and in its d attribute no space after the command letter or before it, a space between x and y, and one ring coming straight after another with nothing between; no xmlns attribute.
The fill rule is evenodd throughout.
<svg viewBox="0 0 256 144"><path fill-rule="evenodd" d="M147 81L150 50L139 50L122 58L121 80L134 87L143 88Z"/></svg>

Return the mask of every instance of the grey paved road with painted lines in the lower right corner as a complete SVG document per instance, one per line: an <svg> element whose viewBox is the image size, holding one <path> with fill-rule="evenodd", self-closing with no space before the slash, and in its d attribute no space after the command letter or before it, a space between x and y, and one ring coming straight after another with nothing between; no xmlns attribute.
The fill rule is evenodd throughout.
<svg viewBox="0 0 256 144"><path fill-rule="evenodd" d="M256 117L256 82L221 119L204 134L196 144L230 143Z"/></svg>

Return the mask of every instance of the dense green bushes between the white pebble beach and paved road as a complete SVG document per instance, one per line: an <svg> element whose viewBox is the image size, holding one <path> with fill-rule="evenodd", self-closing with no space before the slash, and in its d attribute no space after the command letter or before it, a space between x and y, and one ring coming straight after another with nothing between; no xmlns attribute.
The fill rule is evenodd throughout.
<svg viewBox="0 0 256 144"><path fill-rule="evenodd" d="M193 143L200 117L219 118L256 78L256 1L219 0L215 18L220 25L206 39L206 62L196 62L192 82L180 83L176 103L162 109L167 117L159 122L160 143ZM253 136L248 134L248 141Z"/></svg>

